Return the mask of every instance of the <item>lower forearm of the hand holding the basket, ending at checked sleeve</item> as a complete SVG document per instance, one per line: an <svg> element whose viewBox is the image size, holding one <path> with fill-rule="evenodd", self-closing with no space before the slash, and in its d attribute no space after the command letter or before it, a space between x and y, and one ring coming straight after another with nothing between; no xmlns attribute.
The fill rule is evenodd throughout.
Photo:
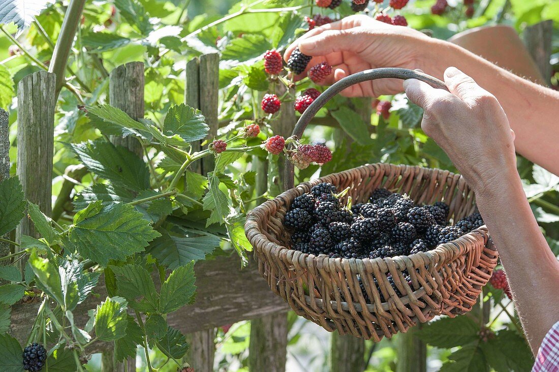
<svg viewBox="0 0 559 372"><path fill-rule="evenodd" d="M492 185L476 192L477 206L499 251L536 354L543 337L559 321L559 263L538 227L518 175Z"/></svg>

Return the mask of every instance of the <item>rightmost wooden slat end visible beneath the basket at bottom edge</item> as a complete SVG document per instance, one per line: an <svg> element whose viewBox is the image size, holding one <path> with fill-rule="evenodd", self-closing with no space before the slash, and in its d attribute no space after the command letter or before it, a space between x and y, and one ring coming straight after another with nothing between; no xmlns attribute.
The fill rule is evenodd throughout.
<svg viewBox="0 0 559 372"><path fill-rule="evenodd" d="M427 347L417 332L421 324L411 327L406 333L399 333L396 337L396 372L425 372L427 370Z"/></svg>

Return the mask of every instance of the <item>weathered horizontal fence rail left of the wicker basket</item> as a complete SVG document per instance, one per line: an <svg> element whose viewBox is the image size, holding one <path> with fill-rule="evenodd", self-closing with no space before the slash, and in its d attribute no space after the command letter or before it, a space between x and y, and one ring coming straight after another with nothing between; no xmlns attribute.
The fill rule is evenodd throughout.
<svg viewBox="0 0 559 372"><path fill-rule="evenodd" d="M179 329L185 335L232 324L259 316L287 312L287 304L270 291L266 280L258 274L253 260L241 269L236 253L213 260L200 261L195 265L196 302L167 316L169 326ZM159 280L155 280L159 288ZM83 326L87 322L87 310L93 309L107 296L105 280L101 276L94 289L98 296L90 295L74 311L75 322ZM29 319L37 316L39 303L18 303L12 307L11 335L20 342L29 336ZM112 343L96 343L92 352L114 347Z"/></svg>

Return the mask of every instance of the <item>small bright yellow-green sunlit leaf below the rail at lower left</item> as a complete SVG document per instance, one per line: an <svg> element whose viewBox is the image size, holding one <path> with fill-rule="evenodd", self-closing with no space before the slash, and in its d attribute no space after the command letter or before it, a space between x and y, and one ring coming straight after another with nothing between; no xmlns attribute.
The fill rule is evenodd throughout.
<svg viewBox="0 0 559 372"><path fill-rule="evenodd" d="M115 341L126 336L127 303L124 298L108 298L97 305L95 335L102 341Z"/></svg>

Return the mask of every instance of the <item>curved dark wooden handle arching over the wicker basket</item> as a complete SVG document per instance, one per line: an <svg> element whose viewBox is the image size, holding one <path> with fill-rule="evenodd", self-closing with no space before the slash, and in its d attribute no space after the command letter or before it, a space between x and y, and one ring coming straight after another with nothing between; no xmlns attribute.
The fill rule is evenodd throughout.
<svg viewBox="0 0 559 372"><path fill-rule="evenodd" d="M356 74L347 76L340 81L332 84L327 90L325 90L314 102L311 103L309 107L305 110L305 112L297 121L295 128L293 129L292 136L296 136L297 138L301 138L305 128L310 123L312 118L316 115L325 104L326 102L330 101L335 95L339 92L343 91L345 88L352 86L354 84L359 84L362 82L366 82L369 80L376 80L376 79L385 79L385 78L392 78L392 79L418 79L425 83L428 83L433 88L444 89L448 91L447 86L437 78L434 78L428 74L423 72L417 72L414 70L409 70L406 68L395 68L395 67L383 67L383 68L375 68L372 70L364 70L362 72L358 72ZM285 161L285 189L293 189L295 185L294 182L294 166L286 158Z"/></svg>

